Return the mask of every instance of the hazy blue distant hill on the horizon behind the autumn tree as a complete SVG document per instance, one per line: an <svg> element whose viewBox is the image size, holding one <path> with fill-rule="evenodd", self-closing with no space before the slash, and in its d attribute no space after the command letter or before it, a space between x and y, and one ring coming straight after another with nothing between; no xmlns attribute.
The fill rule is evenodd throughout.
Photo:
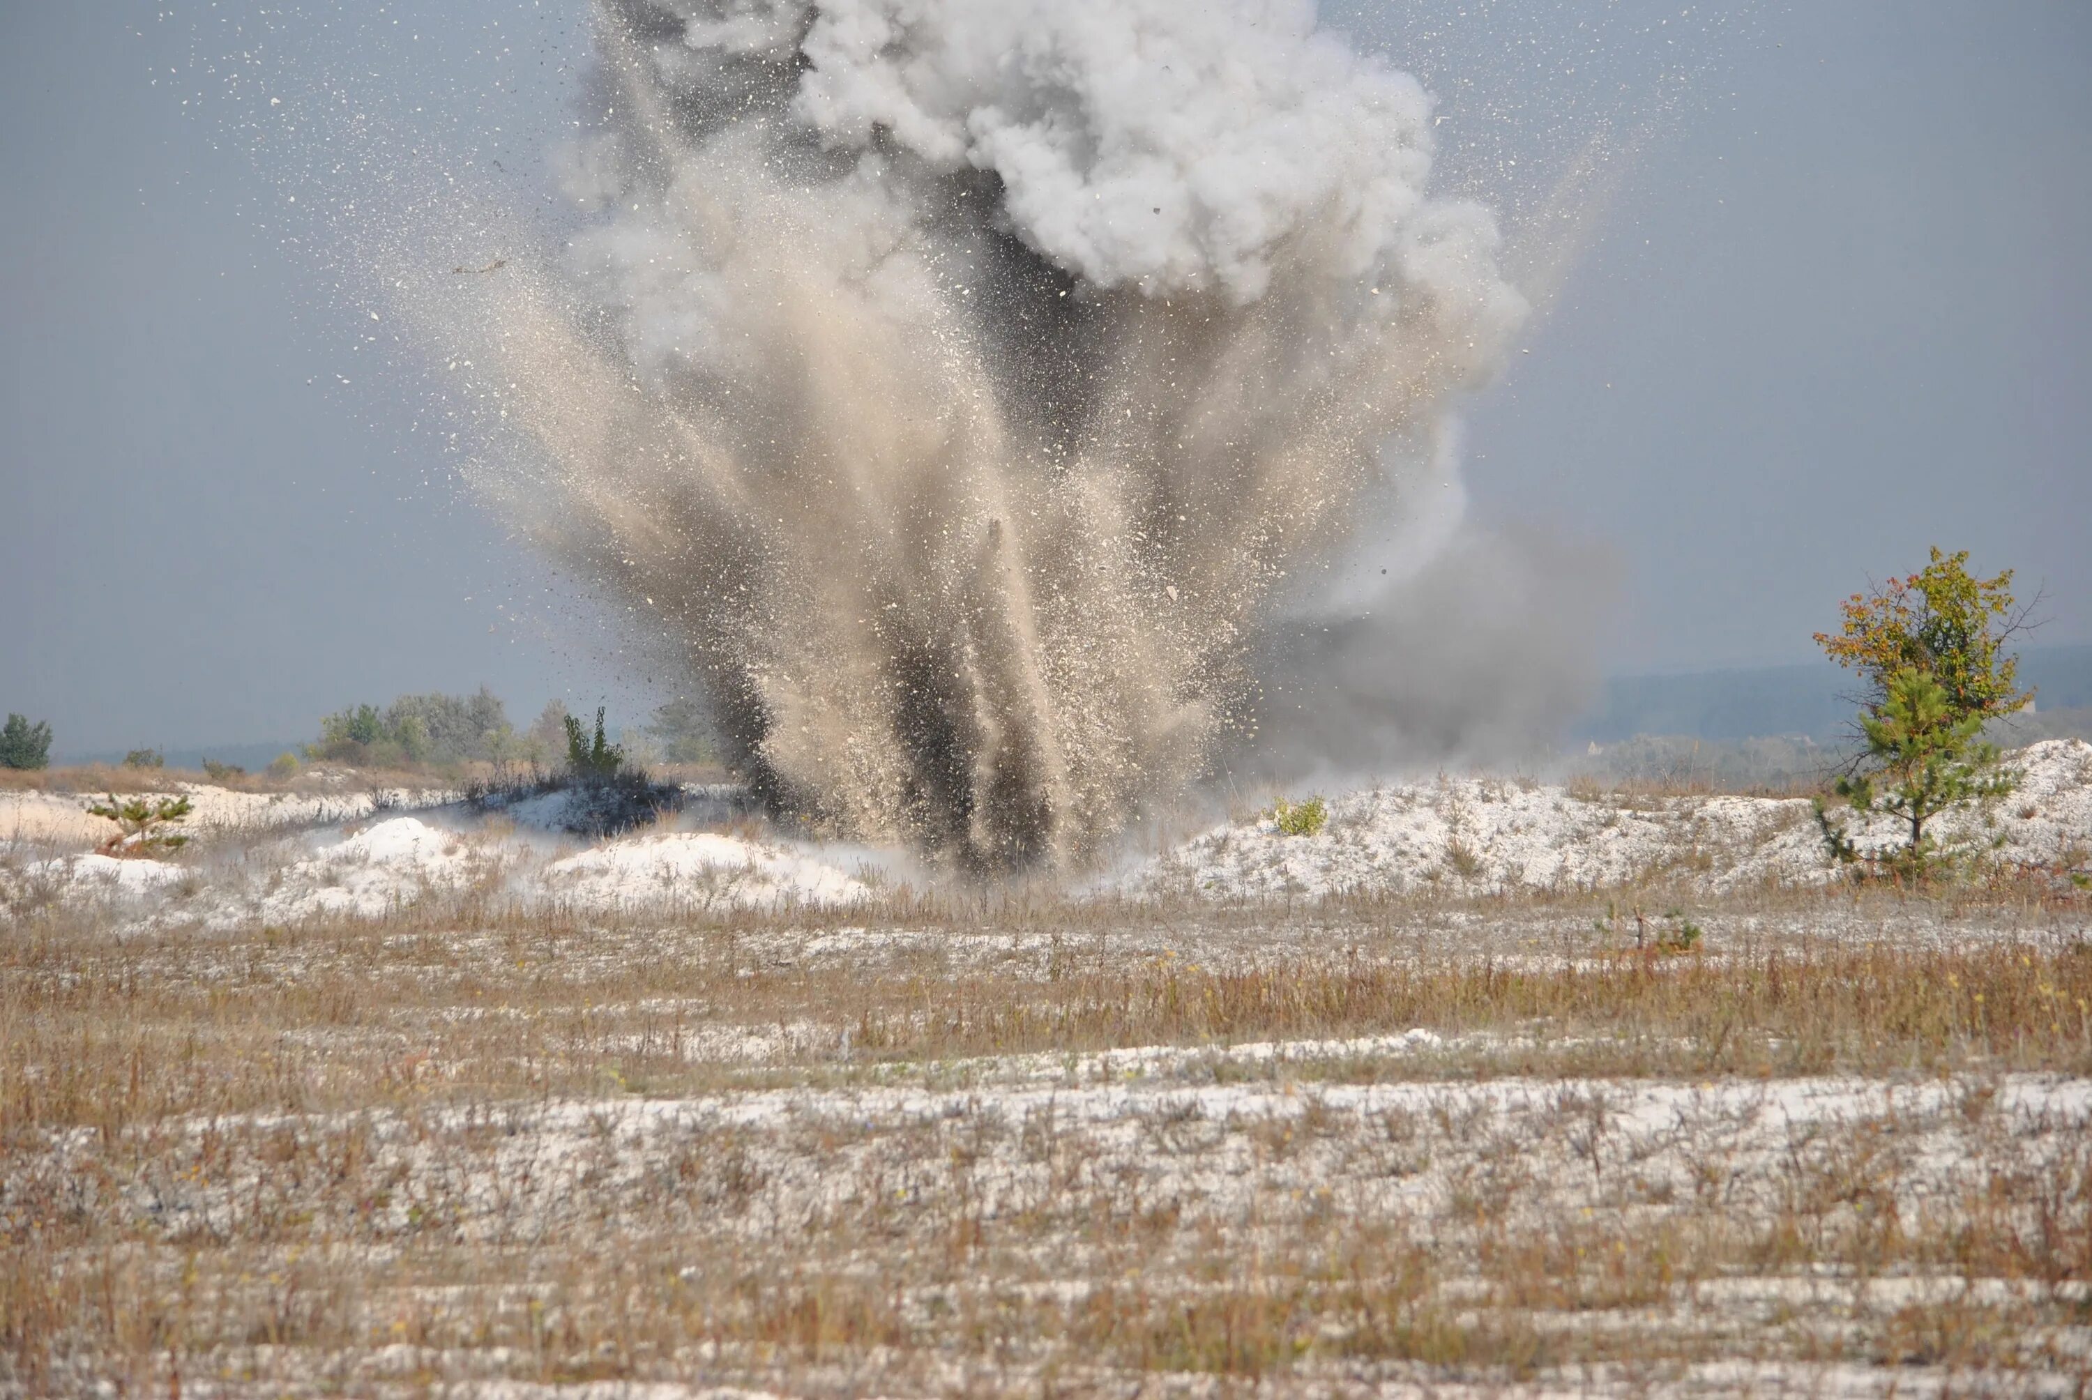
<svg viewBox="0 0 2092 1400"><path fill-rule="evenodd" d="M2027 647L2019 680L2036 688L2036 714L2092 707L2092 645ZM1636 735L1686 739L1764 739L1799 735L1841 739L1851 726L1847 672L1816 661L1678 676L1617 676L1598 707L1579 722L1577 741L1619 743Z"/></svg>

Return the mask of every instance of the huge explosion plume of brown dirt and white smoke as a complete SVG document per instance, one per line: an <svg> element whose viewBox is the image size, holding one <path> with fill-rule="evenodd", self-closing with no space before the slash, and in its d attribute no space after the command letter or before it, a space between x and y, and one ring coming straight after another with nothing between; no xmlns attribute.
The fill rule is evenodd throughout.
<svg viewBox="0 0 2092 1400"><path fill-rule="evenodd" d="M490 486L837 833L1071 864L1197 778L1525 312L1305 2L602 0L596 52L594 213L471 293L548 462Z"/></svg>

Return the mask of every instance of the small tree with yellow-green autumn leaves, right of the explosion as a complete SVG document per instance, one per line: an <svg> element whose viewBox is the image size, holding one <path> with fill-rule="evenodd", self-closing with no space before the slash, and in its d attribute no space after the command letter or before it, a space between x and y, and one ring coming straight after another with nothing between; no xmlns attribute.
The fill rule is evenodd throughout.
<svg viewBox="0 0 2092 1400"><path fill-rule="evenodd" d="M2031 699L2019 688L2019 659L2004 651L2025 626L2010 569L1977 578L1969 550L1933 548L1925 569L1847 599L1839 634L1816 634L1833 661L1866 680L1858 697L1866 749L1837 778L1837 793L1904 827L1889 860L1897 875L1923 879L1939 862L1931 818L2013 791L1983 726ZM1816 820L1837 860L1860 858L1822 801Z"/></svg>

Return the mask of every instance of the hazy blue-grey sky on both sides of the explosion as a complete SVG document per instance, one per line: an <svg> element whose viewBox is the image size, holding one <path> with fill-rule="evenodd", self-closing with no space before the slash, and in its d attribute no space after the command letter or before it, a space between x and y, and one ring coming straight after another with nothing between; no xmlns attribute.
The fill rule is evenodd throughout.
<svg viewBox="0 0 2092 1400"><path fill-rule="evenodd" d="M77 753L297 739L408 688L644 703L644 661L362 372L326 251L257 228L282 170L195 63L251 8L0 13L0 712ZM579 8L354 13L418 33L368 48L372 82L527 163ZM2092 638L2092 10L1326 13L1443 94L1448 178L1513 199L1515 234L1531 170L1609 121L1621 180L1469 410L1469 488L1617 555L1613 670L1801 659L1931 542L2046 584L2044 640Z"/></svg>

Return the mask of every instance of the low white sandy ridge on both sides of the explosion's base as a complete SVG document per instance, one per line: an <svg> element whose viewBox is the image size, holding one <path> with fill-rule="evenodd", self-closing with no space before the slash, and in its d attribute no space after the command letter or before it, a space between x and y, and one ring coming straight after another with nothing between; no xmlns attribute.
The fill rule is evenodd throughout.
<svg viewBox="0 0 2092 1400"><path fill-rule="evenodd" d="M1939 820L1950 845L2023 871L2084 871L2092 852L2092 743L2056 739L2010 758L2019 789ZM851 908L908 887L904 856L797 841L703 810L584 841L565 797L477 812L454 793L291 795L182 789L199 837L169 860L52 854L0 841L8 904L103 902L142 925L236 927L318 917L381 919L431 898L487 896L577 914ZM92 822L88 797L10 793L0 833ZM389 814L414 806L412 812ZM713 804L715 806L715 804ZM36 814L36 816L23 816ZM13 818L13 827L10 827ZM720 827L726 829L720 829ZM709 827L709 829L707 829ZM1893 848L1891 822L1856 822L1862 850ZM1676 883L1720 894L1820 885L1837 877L1801 797L1630 797L1513 778L1441 776L1328 799L1328 825L1282 835L1270 816L1215 827L1092 894L1209 900L1441 889L1579 891Z"/></svg>

